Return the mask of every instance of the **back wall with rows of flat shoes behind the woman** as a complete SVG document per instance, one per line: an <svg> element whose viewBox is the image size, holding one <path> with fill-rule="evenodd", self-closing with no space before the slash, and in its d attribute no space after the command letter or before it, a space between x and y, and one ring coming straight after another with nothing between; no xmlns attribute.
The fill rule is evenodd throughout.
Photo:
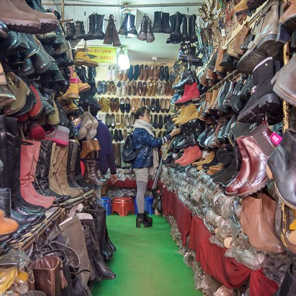
<svg viewBox="0 0 296 296"><path fill-rule="evenodd" d="M101 67L100 67L101 68ZM118 167L128 133L133 131L135 112L139 107L150 109L151 124L156 137L162 137L170 121L174 106L171 68L167 65L134 64L121 71L117 66L102 66L96 75L96 99L102 107L98 118L110 129Z"/></svg>

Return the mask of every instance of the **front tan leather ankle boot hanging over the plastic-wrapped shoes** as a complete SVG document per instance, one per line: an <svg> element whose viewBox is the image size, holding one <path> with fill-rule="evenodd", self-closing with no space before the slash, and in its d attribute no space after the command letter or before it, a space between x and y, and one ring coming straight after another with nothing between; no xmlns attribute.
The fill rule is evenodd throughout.
<svg viewBox="0 0 296 296"><path fill-rule="evenodd" d="M258 195L257 198L248 196L241 202L242 210L239 221L244 233L249 238L250 244L267 252L284 252L281 242L268 224L267 216L274 215L274 213L269 213L268 207L263 209L261 196Z"/></svg>

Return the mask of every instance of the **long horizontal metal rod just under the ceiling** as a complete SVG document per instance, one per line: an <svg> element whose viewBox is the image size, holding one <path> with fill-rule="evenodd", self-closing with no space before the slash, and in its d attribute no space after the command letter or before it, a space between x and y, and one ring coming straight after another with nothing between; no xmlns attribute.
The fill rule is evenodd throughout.
<svg viewBox="0 0 296 296"><path fill-rule="evenodd" d="M61 3L42 3L43 6L61 6ZM64 6L80 6L80 7L120 7L120 8L140 8L140 7L189 7L189 6L202 6L204 2L192 3L163 3L163 4L89 4L89 3L65 3Z"/></svg>

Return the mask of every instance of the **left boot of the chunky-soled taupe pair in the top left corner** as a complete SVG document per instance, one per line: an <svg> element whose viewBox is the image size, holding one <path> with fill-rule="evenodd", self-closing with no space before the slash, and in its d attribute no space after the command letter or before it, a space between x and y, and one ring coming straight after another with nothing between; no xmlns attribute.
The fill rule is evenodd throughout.
<svg viewBox="0 0 296 296"><path fill-rule="evenodd" d="M30 34L42 33L39 18L18 9L10 0L1 1L0 20L9 30Z"/></svg>

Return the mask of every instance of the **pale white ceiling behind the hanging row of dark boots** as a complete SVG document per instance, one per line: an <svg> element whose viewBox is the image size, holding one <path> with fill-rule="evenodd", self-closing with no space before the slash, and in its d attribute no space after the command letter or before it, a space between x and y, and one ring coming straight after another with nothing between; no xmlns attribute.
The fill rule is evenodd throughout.
<svg viewBox="0 0 296 296"><path fill-rule="evenodd" d="M59 0L53 0L56 3L60 3ZM49 0L42 0L43 3L49 3ZM178 0L161 0L161 4L168 3L183 3ZM187 6L187 3L196 3L200 2L198 0L192 1L189 0L184 2L184 6L182 7L140 7L137 8L136 15L136 29L139 29L140 21L144 13L146 13L149 18L153 21L154 12L155 11L163 11L169 12L170 15L174 14L176 11L186 14L198 14L199 6ZM97 0L65 0L66 4L106 4L105 2L99 2ZM159 0L108 0L108 4L110 5L123 5L123 4L133 4L133 5L141 5L141 4L160 4ZM57 6L55 9L60 11L60 7ZM129 8L128 8L129 9ZM131 12L134 13L135 8L130 8ZM86 25L87 17L91 13L104 14L105 19L108 19L109 14L113 14L116 20L115 25L117 30L120 28L122 21L122 12L124 8L120 7L88 7L88 6L65 6L65 18L73 18L74 20L83 20ZM107 26L107 21L104 21L104 30ZM152 61L152 57L158 57L159 62L166 62L169 60L176 60L178 55L179 44L166 44L166 39L168 38L168 34L163 33L155 33L155 41L152 43L147 43L146 41L140 41L137 38L126 38L126 36L119 35L120 42L125 49L128 49L128 56L130 57L131 62L133 61ZM89 46L103 46L103 40L90 40L87 41L87 45Z"/></svg>

